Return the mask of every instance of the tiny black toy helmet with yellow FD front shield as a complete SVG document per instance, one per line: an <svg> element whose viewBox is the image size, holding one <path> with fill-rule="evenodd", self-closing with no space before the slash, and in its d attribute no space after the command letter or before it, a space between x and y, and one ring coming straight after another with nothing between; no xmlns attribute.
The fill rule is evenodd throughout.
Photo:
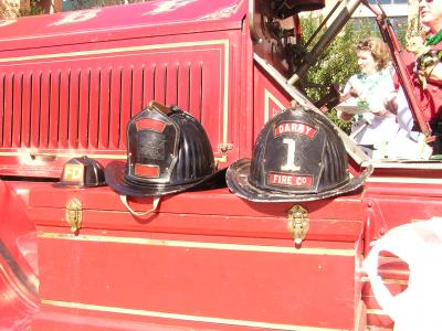
<svg viewBox="0 0 442 331"><path fill-rule="evenodd" d="M106 185L103 166L86 156L73 158L63 166L55 188L95 188Z"/></svg>

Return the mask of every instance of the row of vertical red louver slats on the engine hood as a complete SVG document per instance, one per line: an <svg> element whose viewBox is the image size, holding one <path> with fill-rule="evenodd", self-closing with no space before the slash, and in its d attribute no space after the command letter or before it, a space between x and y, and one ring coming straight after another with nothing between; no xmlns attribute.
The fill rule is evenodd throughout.
<svg viewBox="0 0 442 331"><path fill-rule="evenodd" d="M125 149L127 121L151 99L202 120L204 76L202 61L146 56L1 66L0 147Z"/></svg>

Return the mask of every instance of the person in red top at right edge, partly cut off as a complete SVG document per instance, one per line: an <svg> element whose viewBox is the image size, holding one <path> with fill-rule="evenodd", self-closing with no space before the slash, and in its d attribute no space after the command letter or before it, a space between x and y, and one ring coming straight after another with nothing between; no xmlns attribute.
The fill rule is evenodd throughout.
<svg viewBox="0 0 442 331"><path fill-rule="evenodd" d="M422 35L413 38L403 61L411 77L414 95L424 119L430 124L434 141L432 148L419 131L402 88L388 99L386 107L397 113L399 132L394 148L398 158L428 159L442 152L442 0L421 0L419 17Z"/></svg>

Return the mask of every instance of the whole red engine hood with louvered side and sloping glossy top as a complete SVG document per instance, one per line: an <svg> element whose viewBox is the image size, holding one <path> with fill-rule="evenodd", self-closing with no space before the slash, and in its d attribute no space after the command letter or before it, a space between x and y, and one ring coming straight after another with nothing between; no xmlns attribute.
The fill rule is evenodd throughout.
<svg viewBox="0 0 442 331"><path fill-rule="evenodd" d="M200 120L220 164L250 154L245 10L149 1L1 21L0 174L57 178L75 156L125 159L126 124L150 100Z"/></svg>

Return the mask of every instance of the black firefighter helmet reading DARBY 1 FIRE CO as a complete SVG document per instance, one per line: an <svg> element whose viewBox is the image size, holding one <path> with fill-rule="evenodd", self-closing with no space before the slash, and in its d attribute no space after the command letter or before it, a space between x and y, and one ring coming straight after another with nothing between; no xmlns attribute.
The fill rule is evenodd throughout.
<svg viewBox="0 0 442 331"><path fill-rule="evenodd" d="M229 167L227 182L250 201L301 202L356 190L371 172L368 166L350 179L347 152L334 126L313 110L290 108L264 126L252 160Z"/></svg>

